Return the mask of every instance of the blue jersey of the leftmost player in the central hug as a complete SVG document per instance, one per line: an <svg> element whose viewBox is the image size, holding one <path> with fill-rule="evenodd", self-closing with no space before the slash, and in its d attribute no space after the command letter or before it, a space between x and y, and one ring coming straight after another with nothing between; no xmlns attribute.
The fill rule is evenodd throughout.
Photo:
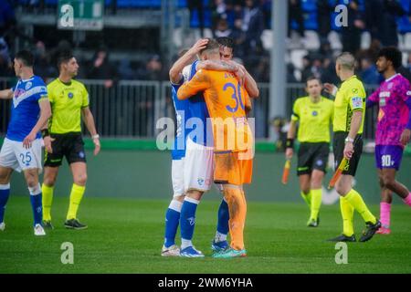
<svg viewBox="0 0 411 292"><path fill-rule="evenodd" d="M172 151L172 159L174 161L179 161L185 157L185 140L187 133L185 130L185 120L189 119L188 100L177 99L177 91L180 89L183 81L184 79L182 78L179 84L172 84L172 99L174 103L175 117L177 119L177 132L175 134Z"/></svg>

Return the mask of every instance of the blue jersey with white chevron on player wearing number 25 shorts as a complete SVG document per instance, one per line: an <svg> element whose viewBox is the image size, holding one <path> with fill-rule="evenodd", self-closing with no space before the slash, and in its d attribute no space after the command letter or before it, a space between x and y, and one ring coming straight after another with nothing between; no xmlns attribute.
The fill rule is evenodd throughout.
<svg viewBox="0 0 411 292"><path fill-rule="evenodd" d="M44 81L34 76L27 80L19 79L13 90L11 119L5 137L12 141L24 141L36 126L40 99L47 98L47 87ZM40 132L36 138L40 138Z"/></svg>

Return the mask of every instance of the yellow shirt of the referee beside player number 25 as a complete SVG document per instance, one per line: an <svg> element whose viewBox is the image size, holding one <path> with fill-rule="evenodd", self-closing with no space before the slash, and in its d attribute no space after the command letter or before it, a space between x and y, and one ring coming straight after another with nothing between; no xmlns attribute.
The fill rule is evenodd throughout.
<svg viewBox="0 0 411 292"><path fill-rule="evenodd" d="M89 106L89 93L82 83L69 84L58 78L47 85L52 117L49 131L54 134L81 132L81 109Z"/></svg>

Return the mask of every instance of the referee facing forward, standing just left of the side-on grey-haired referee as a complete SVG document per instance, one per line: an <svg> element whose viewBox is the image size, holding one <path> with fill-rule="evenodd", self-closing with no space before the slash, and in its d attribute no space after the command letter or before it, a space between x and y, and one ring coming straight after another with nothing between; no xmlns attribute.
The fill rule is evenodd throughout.
<svg viewBox="0 0 411 292"><path fill-rule="evenodd" d="M330 130L334 105L332 100L321 96L322 84L319 78L308 78L306 90L309 96L294 102L287 136L286 158L288 160L292 158L298 122L300 149L297 174L300 179L301 196L311 210L307 225L318 227L322 179L330 154Z"/></svg>

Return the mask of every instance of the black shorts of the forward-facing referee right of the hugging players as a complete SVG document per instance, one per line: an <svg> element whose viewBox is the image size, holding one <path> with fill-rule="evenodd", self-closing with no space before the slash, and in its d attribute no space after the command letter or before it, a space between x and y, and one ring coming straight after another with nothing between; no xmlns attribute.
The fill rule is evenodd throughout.
<svg viewBox="0 0 411 292"><path fill-rule="evenodd" d="M301 143L297 174L299 176L303 174L311 174L313 170L325 173L329 154L329 143Z"/></svg>

